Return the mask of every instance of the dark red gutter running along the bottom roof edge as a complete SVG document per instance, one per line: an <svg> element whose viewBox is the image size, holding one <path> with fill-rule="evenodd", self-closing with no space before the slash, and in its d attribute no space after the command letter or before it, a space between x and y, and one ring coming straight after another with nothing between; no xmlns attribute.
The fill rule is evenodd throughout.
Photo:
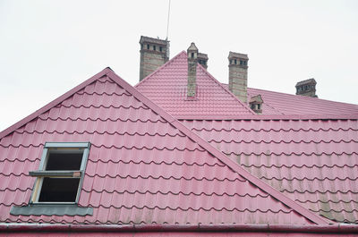
<svg viewBox="0 0 358 237"><path fill-rule="evenodd" d="M0 233L358 233L358 224L0 224Z"/></svg>

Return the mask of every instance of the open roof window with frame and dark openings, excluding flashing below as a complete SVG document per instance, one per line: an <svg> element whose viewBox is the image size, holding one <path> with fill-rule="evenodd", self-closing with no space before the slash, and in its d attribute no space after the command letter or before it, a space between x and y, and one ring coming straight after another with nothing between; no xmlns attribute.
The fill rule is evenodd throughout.
<svg viewBox="0 0 358 237"><path fill-rule="evenodd" d="M30 203L77 203L89 155L89 142L47 142Z"/></svg>

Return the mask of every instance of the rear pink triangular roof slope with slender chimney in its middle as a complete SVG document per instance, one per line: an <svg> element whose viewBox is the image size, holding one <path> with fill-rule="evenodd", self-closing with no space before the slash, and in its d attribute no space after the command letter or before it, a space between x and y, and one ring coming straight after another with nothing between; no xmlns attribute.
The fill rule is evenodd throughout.
<svg viewBox="0 0 358 237"><path fill-rule="evenodd" d="M186 99L187 80L187 55L183 51L141 80L135 88L176 118L186 115L253 114L200 63L197 66L197 97L194 100Z"/></svg>

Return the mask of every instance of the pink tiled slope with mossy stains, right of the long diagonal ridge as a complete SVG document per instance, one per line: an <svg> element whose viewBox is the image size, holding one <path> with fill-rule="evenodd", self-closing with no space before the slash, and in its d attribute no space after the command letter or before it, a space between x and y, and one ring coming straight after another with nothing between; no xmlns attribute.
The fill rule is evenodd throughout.
<svg viewBox="0 0 358 237"><path fill-rule="evenodd" d="M304 207L358 224L358 116L183 123Z"/></svg>

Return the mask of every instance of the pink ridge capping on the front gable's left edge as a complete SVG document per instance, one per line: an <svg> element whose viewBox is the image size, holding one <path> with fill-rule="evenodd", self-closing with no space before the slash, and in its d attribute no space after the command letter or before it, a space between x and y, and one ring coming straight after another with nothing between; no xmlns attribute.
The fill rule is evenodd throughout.
<svg viewBox="0 0 358 237"><path fill-rule="evenodd" d="M62 96L55 98L53 101L49 102L46 106L42 106L41 108L39 108L34 113L32 113L32 114L26 116L25 118L21 119L21 121L19 121L17 123L14 123L12 126L8 127L4 131L1 131L0 132L0 139L4 138L4 136L6 136L9 133L15 131L16 129L20 128L22 125L24 125L26 123L29 123L31 120L33 120L36 117L38 117L40 114L43 114L43 113L47 112L47 110L49 110L52 107L58 105L59 103L64 101L66 98L71 97L74 93L76 93L77 91L79 91L79 90L85 88L86 86L90 85L90 83L92 83L93 81L98 80L99 78L107 75L108 72L113 72L110 67L107 67L104 70L102 70L101 72L98 72L94 76L90 77L90 79L83 81L77 87L75 87L73 89L70 89L69 91L64 93Z"/></svg>

